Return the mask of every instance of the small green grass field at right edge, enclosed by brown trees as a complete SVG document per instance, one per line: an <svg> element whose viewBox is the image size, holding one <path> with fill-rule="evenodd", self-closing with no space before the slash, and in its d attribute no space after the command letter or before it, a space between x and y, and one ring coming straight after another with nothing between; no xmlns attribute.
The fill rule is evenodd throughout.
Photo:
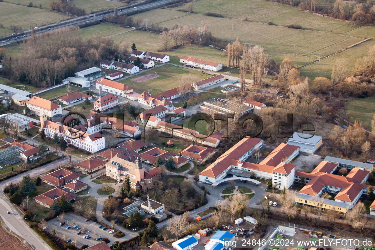
<svg viewBox="0 0 375 250"><path fill-rule="evenodd" d="M345 104L347 117L350 121L359 121L362 126L370 129L372 116L375 114L375 97L359 98Z"/></svg>

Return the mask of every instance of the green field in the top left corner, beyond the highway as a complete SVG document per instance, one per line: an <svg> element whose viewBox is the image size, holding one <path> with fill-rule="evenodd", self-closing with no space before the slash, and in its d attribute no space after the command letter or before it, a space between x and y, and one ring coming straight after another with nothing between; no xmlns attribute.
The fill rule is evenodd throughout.
<svg viewBox="0 0 375 250"><path fill-rule="evenodd" d="M27 30L35 26L58 22L69 17L62 13L39 8L31 8L23 5L0 2L0 24L5 27L16 25ZM13 33L9 30L8 34Z"/></svg>

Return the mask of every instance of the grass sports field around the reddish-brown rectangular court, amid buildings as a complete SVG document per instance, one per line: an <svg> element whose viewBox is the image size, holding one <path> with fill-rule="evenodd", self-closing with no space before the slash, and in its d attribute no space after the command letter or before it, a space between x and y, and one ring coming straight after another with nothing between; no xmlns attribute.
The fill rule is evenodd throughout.
<svg viewBox="0 0 375 250"><path fill-rule="evenodd" d="M130 79L143 76L143 75L147 75L150 73L154 73L154 72L156 72L156 74L159 75L159 77L150 79L144 82L130 81ZM166 90L170 90L172 88L177 88L179 86L178 78L181 77L181 74L188 74L188 73L195 73L201 79L206 79L210 77L210 75L202 74L197 70L185 69L185 68L177 67L173 65L163 65L158 68L138 74L136 76L123 79L119 82L126 84L128 86L135 84L132 86L132 88L135 92L139 94L149 89L152 89L151 91L152 94L157 94Z"/></svg>

